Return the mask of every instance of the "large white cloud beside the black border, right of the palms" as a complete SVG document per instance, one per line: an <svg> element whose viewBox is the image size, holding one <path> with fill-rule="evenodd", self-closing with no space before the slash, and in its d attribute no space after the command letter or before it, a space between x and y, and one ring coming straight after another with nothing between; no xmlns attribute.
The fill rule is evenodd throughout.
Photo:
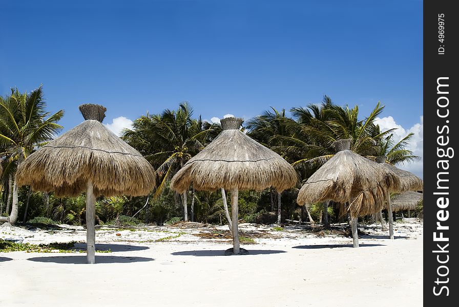
<svg viewBox="0 0 459 307"><path fill-rule="evenodd" d="M385 131L391 128L397 128L392 133L394 136L394 141L398 142L403 137L405 137L409 133L413 133L414 135L411 137L411 140L406 146L406 149L409 149L413 152L413 155L421 157L419 160L415 160L414 162L409 162L405 164L397 165L397 167L401 169L408 170L416 176L423 178L423 160L424 160L424 151L423 151L423 142L424 142L424 116L420 117L420 122L414 124L409 129L405 129L401 125L397 124L392 116L375 119L375 124L379 124L381 131Z"/></svg>

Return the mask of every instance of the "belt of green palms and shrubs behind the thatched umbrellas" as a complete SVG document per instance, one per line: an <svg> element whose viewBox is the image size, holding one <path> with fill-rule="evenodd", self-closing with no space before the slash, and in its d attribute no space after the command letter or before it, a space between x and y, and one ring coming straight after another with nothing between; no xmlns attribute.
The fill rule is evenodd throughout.
<svg viewBox="0 0 459 307"><path fill-rule="evenodd" d="M270 108L243 123L248 136L276 151L294 166L300 181L297 187L283 193L273 189L240 191L240 220L263 224L285 220L324 225L338 222L341 217L333 203L312 204L306 208L296 203L302 183L335 154L333 141L351 138L352 149L360 155L368 159L385 155L391 164L417 159L407 149L412 134L397 141L393 129L381 131L375 124L383 109L384 106L377 103L370 114L362 116L357 105L337 105L324 96L319 104L291 107L288 112ZM54 114L47 112L41 86L30 93L12 89L10 94L0 97L0 162L3 167L0 221L14 224L18 223L18 216L22 216L24 223L86 223L85 194L58 198L52 192L32 191L27 186L15 184L17 165L63 129L58 124L62 116L62 110ZM163 225L191 220L227 224L221 191L195 191L191 187L180 195L169 187L174 174L220 131L220 124L195 116L186 102L180 103L177 109L139 116L132 128L123 130L121 138L153 165L157 172L157 188L140 197L99 196L97 223ZM230 204L229 196L226 198Z"/></svg>

